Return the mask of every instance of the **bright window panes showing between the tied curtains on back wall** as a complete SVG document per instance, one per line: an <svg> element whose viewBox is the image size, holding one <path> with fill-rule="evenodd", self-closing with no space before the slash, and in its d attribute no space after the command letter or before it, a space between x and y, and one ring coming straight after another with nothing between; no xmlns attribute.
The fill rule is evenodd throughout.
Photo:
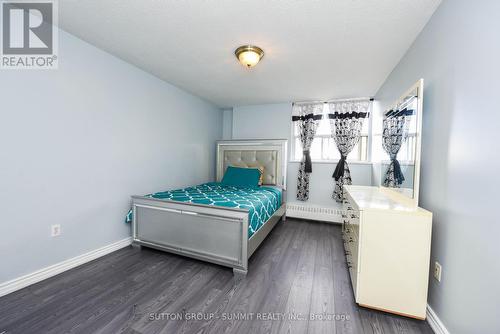
<svg viewBox="0 0 500 334"><path fill-rule="evenodd" d="M340 153L335 145L330 130L330 120L328 119L328 105L323 107L323 119L320 121L316 136L311 145L311 159L313 161L334 161L340 159ZM363 129L359 143L354 146L352 152L347 156L348 161L367 161L368 160L368 129L369 119L363 121ZM297 122L292 123L292 158L295 161L302 159L302 143L300 142L299 129Z"/></svg>

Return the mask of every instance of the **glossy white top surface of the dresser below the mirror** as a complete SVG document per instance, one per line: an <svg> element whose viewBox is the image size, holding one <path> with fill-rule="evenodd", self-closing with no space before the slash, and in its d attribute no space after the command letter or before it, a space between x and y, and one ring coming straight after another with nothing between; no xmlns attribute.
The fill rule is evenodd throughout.
<svg viewBox="0 0 500 334"><path fill-rule="evenodd" d="M410 201L401 198L396 192L380 187L344 186L348 195L360 210L395 210L420 214L431 214Z"/></svg>

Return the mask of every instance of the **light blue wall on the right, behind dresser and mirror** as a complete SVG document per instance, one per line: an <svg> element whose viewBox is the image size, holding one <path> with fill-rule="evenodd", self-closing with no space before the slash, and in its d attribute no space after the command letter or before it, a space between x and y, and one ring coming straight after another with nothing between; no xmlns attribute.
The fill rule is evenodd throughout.
<svg viewBox="0 0 500 334"><path fill-rule="evenodd" d="M451 333L500 333L500 2L443 1L377 99L424 78L420 205L434 212L429 304Z"/></svg>

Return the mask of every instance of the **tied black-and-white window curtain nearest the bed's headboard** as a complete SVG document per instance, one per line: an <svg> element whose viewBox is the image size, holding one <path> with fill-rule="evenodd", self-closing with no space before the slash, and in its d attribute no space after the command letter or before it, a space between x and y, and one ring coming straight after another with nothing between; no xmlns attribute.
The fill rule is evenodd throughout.
<svg viewBox="0 0 500 334"><path fill-rule="evenodd" d="M299 201L309 199L309 174L312 173L310 149L322 118L322 103L293 105L292 122L298 127L303 152L297 175L297 199Z"/></svg>

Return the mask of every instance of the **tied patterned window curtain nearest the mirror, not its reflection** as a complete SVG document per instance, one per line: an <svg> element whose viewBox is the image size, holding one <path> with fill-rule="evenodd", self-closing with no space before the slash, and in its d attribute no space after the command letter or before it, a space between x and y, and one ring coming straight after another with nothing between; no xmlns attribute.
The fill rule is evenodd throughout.
<svg viewBox="0 0 500 334"><path fill-rule="evenodd" d="M335 179L332 197L337 202L344 200L344 185L352 184L347 156L359 142L363 120L370 115L370 104L370 100L338 101L328 104L332 138L340 153L340 160L332 175Z"/></svg>

